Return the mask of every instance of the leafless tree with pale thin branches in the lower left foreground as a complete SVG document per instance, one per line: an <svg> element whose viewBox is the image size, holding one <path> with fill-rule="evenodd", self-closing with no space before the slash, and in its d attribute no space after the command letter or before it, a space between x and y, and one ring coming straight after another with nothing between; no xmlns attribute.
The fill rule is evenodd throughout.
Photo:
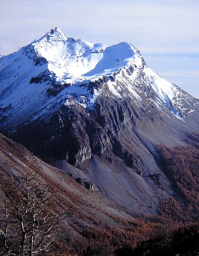
<svg viewBox="0 0 199 256"><path fill-rule="evenodd" d="M40 255L52 249L61 222L75 212L28 168L22 180L0 184L0 255Z"/></svg>

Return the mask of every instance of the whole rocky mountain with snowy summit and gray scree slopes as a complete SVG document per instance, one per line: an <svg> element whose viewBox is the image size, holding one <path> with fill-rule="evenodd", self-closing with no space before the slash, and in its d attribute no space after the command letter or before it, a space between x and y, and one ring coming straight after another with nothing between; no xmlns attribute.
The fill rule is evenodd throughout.
<svg viewBox="0 0 199 256"><path fill-rule="evenodd" d="M0 88L0 131L117 205L158 214L160 199L176 193L157 148L198 133L199 100L132 44L91 44L53 28L0 58Z"/></svg>

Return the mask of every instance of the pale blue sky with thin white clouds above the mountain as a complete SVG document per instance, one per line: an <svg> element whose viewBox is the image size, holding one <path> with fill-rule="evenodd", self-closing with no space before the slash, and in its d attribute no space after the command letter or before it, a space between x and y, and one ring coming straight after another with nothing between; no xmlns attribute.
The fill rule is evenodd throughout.
<svg viewBox="0 0 199 256"><path fill-rule="evenodd" d="M160 76L199 98L198 0L0 0L0 54L53 27L107 46L132 42Z"/></svg>

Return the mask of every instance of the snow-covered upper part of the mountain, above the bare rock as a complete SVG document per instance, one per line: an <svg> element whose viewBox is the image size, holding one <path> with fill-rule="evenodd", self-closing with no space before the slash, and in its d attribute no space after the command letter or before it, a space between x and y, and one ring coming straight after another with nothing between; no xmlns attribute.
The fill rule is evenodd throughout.
<svg viewBox="0 0 199 256"><path fill-rule="evenodd" d="M106 47L67 38L58 28L0 59L0 125L13 131L24 122L48 118L61 105L94 108L100 95L144 98L181 119L198 101L149 69L129 43Z"/></svg>

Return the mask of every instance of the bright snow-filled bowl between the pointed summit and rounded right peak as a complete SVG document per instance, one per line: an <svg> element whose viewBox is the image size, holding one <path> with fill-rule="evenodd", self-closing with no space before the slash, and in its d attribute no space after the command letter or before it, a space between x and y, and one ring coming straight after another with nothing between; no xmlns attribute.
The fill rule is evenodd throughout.
<svg viewBox="0 0 199 256"><path fill-rule="evenodd" d="M135 54L129 43L111 47L91 44L81 39L66 38L58 28L33 42L32 46L37 56L48 61L48 69L56 75L56 80L63 83L111 75L133 61Z"/></svg>

